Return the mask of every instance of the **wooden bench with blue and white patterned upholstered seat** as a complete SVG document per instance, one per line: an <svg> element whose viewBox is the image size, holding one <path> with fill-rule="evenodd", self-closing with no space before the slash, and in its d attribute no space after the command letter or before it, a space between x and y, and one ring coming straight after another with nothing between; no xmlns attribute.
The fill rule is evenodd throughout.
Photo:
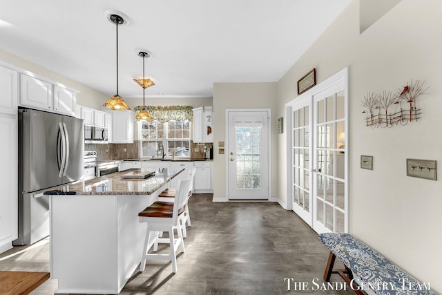
<svg viewBox="0 0 442 295"><path fill-rule="evenodd" d="M338 274L356 294L377 295L437 295L430 283L421 283L350 234L319 234L319 239L330 249L324 280ZM334 269L335 258L344 269ZM358 283L355 282L355 278Z"/></svg>

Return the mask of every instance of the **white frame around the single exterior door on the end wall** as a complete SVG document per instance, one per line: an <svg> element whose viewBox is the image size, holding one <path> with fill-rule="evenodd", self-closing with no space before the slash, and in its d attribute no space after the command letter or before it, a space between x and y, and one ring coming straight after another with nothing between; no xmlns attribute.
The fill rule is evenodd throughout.
<svg viewBox="0 0 442 295"><path fill-rule="evenodd" d="M226 108L226 136L224 143L224 166L226 167L226 200L229 201L229 155L227 152L227 148L229 147L229 112L267 112L268 115L268 131L269 131L269 173L268 173L268 182L269 182L269 193L268 200L271 200L271 109L270 108Z"/></svg>

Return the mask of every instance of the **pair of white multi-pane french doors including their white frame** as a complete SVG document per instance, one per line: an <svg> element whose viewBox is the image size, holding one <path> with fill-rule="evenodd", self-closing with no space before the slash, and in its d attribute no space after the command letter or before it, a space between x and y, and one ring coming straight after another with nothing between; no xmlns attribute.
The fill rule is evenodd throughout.
<svg viewBox="0 0 442 295"><path fill-rule="evenodd" d="M286 105L287 202L315 231L348 231L347 68Z"/></svg>

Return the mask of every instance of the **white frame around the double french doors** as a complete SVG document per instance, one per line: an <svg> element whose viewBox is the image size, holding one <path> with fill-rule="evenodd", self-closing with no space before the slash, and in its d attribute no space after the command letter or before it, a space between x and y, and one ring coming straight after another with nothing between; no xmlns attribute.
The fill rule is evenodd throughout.
<svg viewBox="0 0 442 295"><path fill-rule="evenodd" d="M286 204L288 210L293 210L292 203L293 203L293 184L291 183L291 180L293 179L293 169L291 166L291 163L293 162L293 155L291 153L291 143L292 143L292 137L293 134L289 132L291 130L292 122L289 120L289 118L292 117L291 110L292 106L295 106L298 104L298 102L301 99L313 99L314 95L317 95L318 93L325 91L325 89L333 86L334 84L337 84L339 82L344 82L345 84L345 133L347 136L345 136L345 184L344 184L344 191L345 191L345 232L349 232L349 68L343 68L343 70L338 71L338 73L334 74L332 77L329 77L328 79L325 79L325 81L321 82L320 84L314 86L313 88L309 89L302 95L292 99L290 102L287 102L285 104L285 116L287 120L285 120L285 130L287 130L287 139L286 139L286 153L287 153L287 187L286 187ZM312 111L312 110L310 110ZM311 130L312 132L313 130ZM316 133L316 131L315 131ZM313 151L316 152L316 151ZM310 162L311 164L314 164L313 161ZM314 189L311 187L311 189ZM312 196L312 193L310 193L311 198L314 198ZM313 202L310 202L310 210L316 210L316 204ZM314 213L311 213L311 225L313 225L313 218Z"/></svg>

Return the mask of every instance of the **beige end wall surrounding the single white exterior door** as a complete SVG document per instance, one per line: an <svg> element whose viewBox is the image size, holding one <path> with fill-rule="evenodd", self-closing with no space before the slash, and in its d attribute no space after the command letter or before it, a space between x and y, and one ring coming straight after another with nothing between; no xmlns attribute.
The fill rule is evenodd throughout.
<svg viewBox="0 0 442 295"><path fill-rule="evenodd" d="M276 151L278 117L276 111L276 83L215 83L213 84L213 198L226 198L226 159L218 153L218 142L227 142L227 108L270 108L271 109L271 151ZM276 196L277 161L271 153L273 171L271 196Z"/></svg>

